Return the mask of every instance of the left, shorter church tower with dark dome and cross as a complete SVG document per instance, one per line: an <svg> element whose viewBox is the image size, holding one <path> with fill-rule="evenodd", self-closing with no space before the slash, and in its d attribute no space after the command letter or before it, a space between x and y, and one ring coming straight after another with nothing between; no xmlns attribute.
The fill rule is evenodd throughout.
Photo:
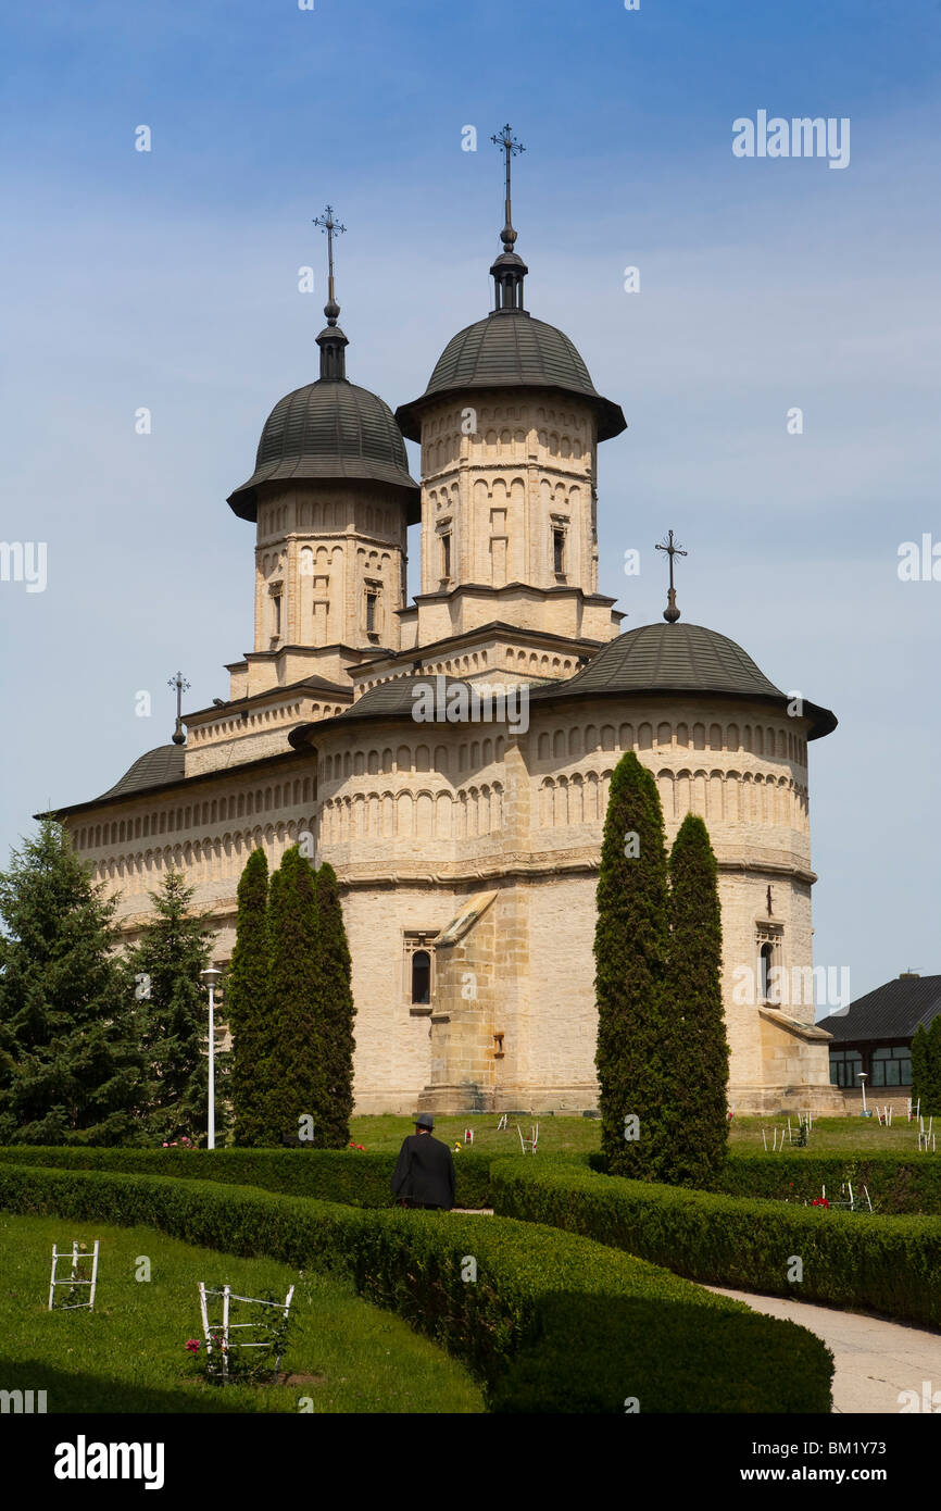
<svg viewBox="0 0 941 1511"><path fill-rule="evenodd" d="M329 205L314 224L329 257L320 376L275 405L255 471L228 500L257 524L248 697L311 674L341 683L349 666L399 648L406 526L418 520L391 409L346 376L334 292L334 234L344 227Z"/></svg>

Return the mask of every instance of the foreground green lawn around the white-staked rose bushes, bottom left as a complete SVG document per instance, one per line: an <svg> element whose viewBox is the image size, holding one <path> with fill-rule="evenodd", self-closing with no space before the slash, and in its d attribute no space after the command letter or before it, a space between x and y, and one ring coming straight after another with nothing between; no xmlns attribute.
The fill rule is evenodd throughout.
<svg viewBox="0 0 941 1511"><path fill-rule="evenodd" d="M53 1242L100 1241L95 1310L53 1312ZM266 1259L195 1248L148 1227L74 1224L0 1213L0 1389L45 1390L47 1411L279 1411L307 1396L319 1413L476 1413L480 1390L453 1358L406 1322L359 1299L352 1281ZM134 1278L139 1256L151 1280ZM62 1266L60 1266L62 1268ZM311 1380L210 1386L186 1352L202 1337L196 1284L285 1295L292 1339L281 1363ZM310 1410L310 1408L308 1408Z"/></svg>

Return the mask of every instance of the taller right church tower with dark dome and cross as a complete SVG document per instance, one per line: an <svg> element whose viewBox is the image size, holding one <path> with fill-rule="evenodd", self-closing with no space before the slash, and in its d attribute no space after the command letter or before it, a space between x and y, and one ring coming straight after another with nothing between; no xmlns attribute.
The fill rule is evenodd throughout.
<svg viewBox="0 0 941 1511"><path fill-rule="evenodd" d="M420 399L396 413L421 443L417 647L501 621L568 639L618 633L598 594L597 447L627 428L574 343L524 308L509 125L494 308L459 331Z"/></svg>

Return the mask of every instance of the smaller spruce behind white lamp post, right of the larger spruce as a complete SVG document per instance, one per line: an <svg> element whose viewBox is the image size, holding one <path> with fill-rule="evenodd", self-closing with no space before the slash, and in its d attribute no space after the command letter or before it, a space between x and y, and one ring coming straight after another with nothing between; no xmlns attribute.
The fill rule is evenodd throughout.
<svg viewBox="0 0 941 1511"><path fill-rule="evenodd" d="M171 870L151 891L154 917L127 956L143 1009L148 1132L157 1142L205 1142L208 1111L208 1003L199 972L210 964L213 931L190 913L195 890ZM216 1133L225 1129L227 1055L216 1050Z"/></svg>

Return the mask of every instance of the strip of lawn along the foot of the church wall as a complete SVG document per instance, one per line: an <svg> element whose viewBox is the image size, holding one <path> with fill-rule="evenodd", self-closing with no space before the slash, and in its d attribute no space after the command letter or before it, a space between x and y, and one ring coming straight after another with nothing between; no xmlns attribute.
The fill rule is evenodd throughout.
<svg viewBox="0 0 941 1511"><path fill-rule="evenodd" d="M539 1151L547 1154L582 1154L601 1148L601 1123L598 1118L582 1117L550 1117L544 1112L527 1112L520 1118L509 1118L509 1127L497 1132L498 1115L488 1112L483 1115L464 1115L458 1118L435 1118L435 1138L444 1139L455 1147L464 1141L464 1129L474 1130L474 1150L486 1154L518 1154L520 1135L517 1123L529 1138L533 1123L539 1124ZM761 1129L767 1130L767 1142L772 1142L772 1129L787 1127L787 1115L775 1114L763 1118L734 1118L730 1124L730 1150L736 1154L761 1150ZM796 1114L791 1112L791 1127L798 1129ZM941 1118L935 1124L941 1133ZM373 1153L393 1153L399 1148L406 1133L412 1133L414 1126L409 1118L399 1117L361 1117L350 1124L350 1138L363 1144ZM843 1154L867 1153L884 1150L891 1154L918 1156L917 1124L906 1123L905 1115L896 1118L890 1129L881 1127L876 1118L822 1118L814 1123L810 1136L810 1153L813 1154ZM794 1153L801 1153L794 1150ZM461 1156L458 1156L461 1157ZM930 1157L930 1156L923 1156Z"/></svg>

